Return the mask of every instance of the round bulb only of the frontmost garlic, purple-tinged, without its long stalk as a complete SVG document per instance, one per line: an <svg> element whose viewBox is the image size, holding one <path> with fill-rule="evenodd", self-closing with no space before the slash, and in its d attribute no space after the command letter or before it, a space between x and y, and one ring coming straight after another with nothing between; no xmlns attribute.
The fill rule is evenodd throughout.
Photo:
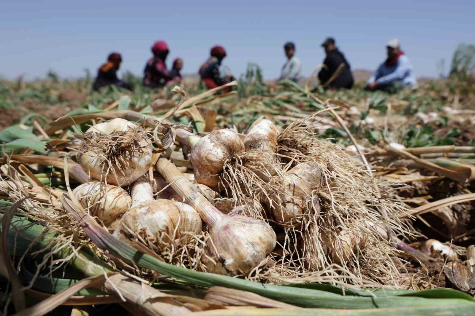
<svg viewBox="0 0 475 316"><path fill-rule="evenodd" d="M247 216L229 216L209 231L202 262L207 272L236 275L257 267L276 247L276 233L264 221Z"/></svg>

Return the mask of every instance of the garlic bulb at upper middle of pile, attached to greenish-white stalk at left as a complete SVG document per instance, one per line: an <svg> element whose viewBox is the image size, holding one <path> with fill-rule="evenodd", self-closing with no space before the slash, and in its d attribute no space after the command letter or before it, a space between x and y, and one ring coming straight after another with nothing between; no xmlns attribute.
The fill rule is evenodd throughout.
<svg viewBox="0 0 475 316"><path fill-rule="evenodd" d="M196 182L216 188L224 162L243 151L244 144L234 130L213 130L199 139L190 155Z"/></svg>

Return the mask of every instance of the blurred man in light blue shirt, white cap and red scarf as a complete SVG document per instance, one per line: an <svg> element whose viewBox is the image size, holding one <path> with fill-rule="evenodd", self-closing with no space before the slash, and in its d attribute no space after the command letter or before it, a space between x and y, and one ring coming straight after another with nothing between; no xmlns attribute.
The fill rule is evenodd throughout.
<svg viewBox="0 0 475 316"><path fill-rule="evenodd" d="M400 49L399 39L391 39L386 45L388 58L378 67L368 80L367 90L385 90L401 85L417 87L413 67L408 56Z"/></svg>

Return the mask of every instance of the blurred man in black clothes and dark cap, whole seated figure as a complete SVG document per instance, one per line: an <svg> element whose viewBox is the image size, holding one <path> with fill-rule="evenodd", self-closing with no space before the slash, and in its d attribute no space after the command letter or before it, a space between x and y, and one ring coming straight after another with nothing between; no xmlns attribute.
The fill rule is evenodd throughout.
<svg viewBox="0 0 475 316"><path fill-rule="evenodd" d="M335 40L332 37L328 37L322 46L325 49L326 57L323 60L322 70L318 73L320 84L323 85L332 79L326 87L350 89L354 82L350 63L335 46ZM337 71L339 74L336 74Z"/></svg>

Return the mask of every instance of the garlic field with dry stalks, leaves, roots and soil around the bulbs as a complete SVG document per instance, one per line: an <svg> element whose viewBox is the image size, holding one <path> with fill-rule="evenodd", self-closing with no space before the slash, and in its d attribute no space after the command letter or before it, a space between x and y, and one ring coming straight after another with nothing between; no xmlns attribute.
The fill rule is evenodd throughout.
<svg viewBox="0 0 475 316"><path fill-rule="evenodd" d="M393 93L364 91L362 82L344 91L310 81L267 85L252 64L229 93L209 93L196 80L185 79L183 90L153 91L132 74L124 79L133 92L97 93L91 78L54 73L0 81L5 315L471 315L473 73ZM71 197L82 182L74 168L92 135L86 130L95 124L124 118L144 127L155 166L145 177L160 172L166 186L154 193L164 198L180 195L181 180L167 178L160 163L170 160L180 175L198 168L182 153L180 130L205 136L231 129L244 139L262 116L283 130L272 156L282 171L263 180L256 174L269 160L233 154L210 199L221 212L275 232L275 249L251 270L210 273L218 271L206 258L211 225L182 243L139 230L119 242L101 215L81 211ZM89 146L122 152L127 135L93 138ZM279 196L287 170L299 163L321 169L320 186L304 199L298 223L279 222L263 201Z"/></svg>

